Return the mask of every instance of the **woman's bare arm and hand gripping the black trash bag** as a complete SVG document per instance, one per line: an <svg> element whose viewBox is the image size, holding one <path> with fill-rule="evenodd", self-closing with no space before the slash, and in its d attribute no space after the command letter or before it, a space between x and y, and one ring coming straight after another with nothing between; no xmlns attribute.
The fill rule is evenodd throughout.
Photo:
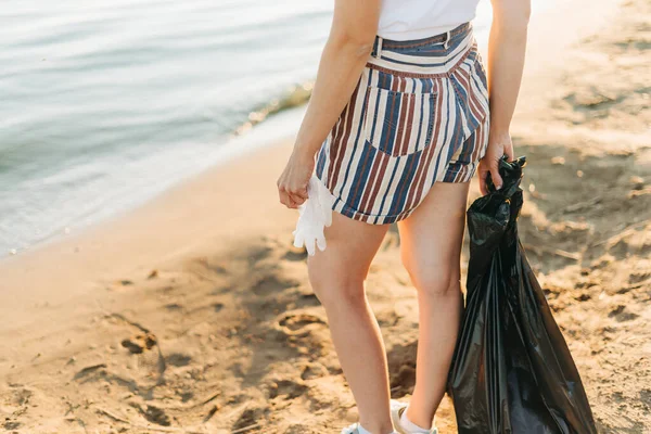
<svg viewBox="0 0 651 434"><path fill-rule="evenodd" d="M480 187L486 194L486 176L501 188L498 163L502 155L514 159L509 128L524 69L531 0L493 0L493 25L488 39L488 94L490 133L480 164Z"/></svg>

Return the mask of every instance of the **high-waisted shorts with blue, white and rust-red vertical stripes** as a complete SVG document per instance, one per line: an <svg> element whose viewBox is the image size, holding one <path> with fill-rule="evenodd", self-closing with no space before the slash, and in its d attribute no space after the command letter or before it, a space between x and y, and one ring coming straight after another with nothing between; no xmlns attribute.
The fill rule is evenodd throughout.
<svg viewBox="0 0 651 434"><path fill-rule="evenodd" d="M434 182L467 182L488 143L488 91L472 25L375 38L350 101L317 154L332 209L369 224L407 218Z"/></svg>

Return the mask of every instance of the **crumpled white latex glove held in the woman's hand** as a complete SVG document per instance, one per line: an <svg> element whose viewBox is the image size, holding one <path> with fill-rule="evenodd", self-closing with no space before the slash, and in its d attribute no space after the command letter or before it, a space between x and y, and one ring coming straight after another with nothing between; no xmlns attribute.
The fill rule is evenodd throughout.
<svg viewBox="0 0 651 434"><path fill-rule="evenodd" d="M298 205L298 221L294 235L294 246L305 248L309 255L316 253L315 244L321 252L326 250L323 230L332 225L332 204L334 196L323 182L312 175L307 186L307 201Z"/></svg>

